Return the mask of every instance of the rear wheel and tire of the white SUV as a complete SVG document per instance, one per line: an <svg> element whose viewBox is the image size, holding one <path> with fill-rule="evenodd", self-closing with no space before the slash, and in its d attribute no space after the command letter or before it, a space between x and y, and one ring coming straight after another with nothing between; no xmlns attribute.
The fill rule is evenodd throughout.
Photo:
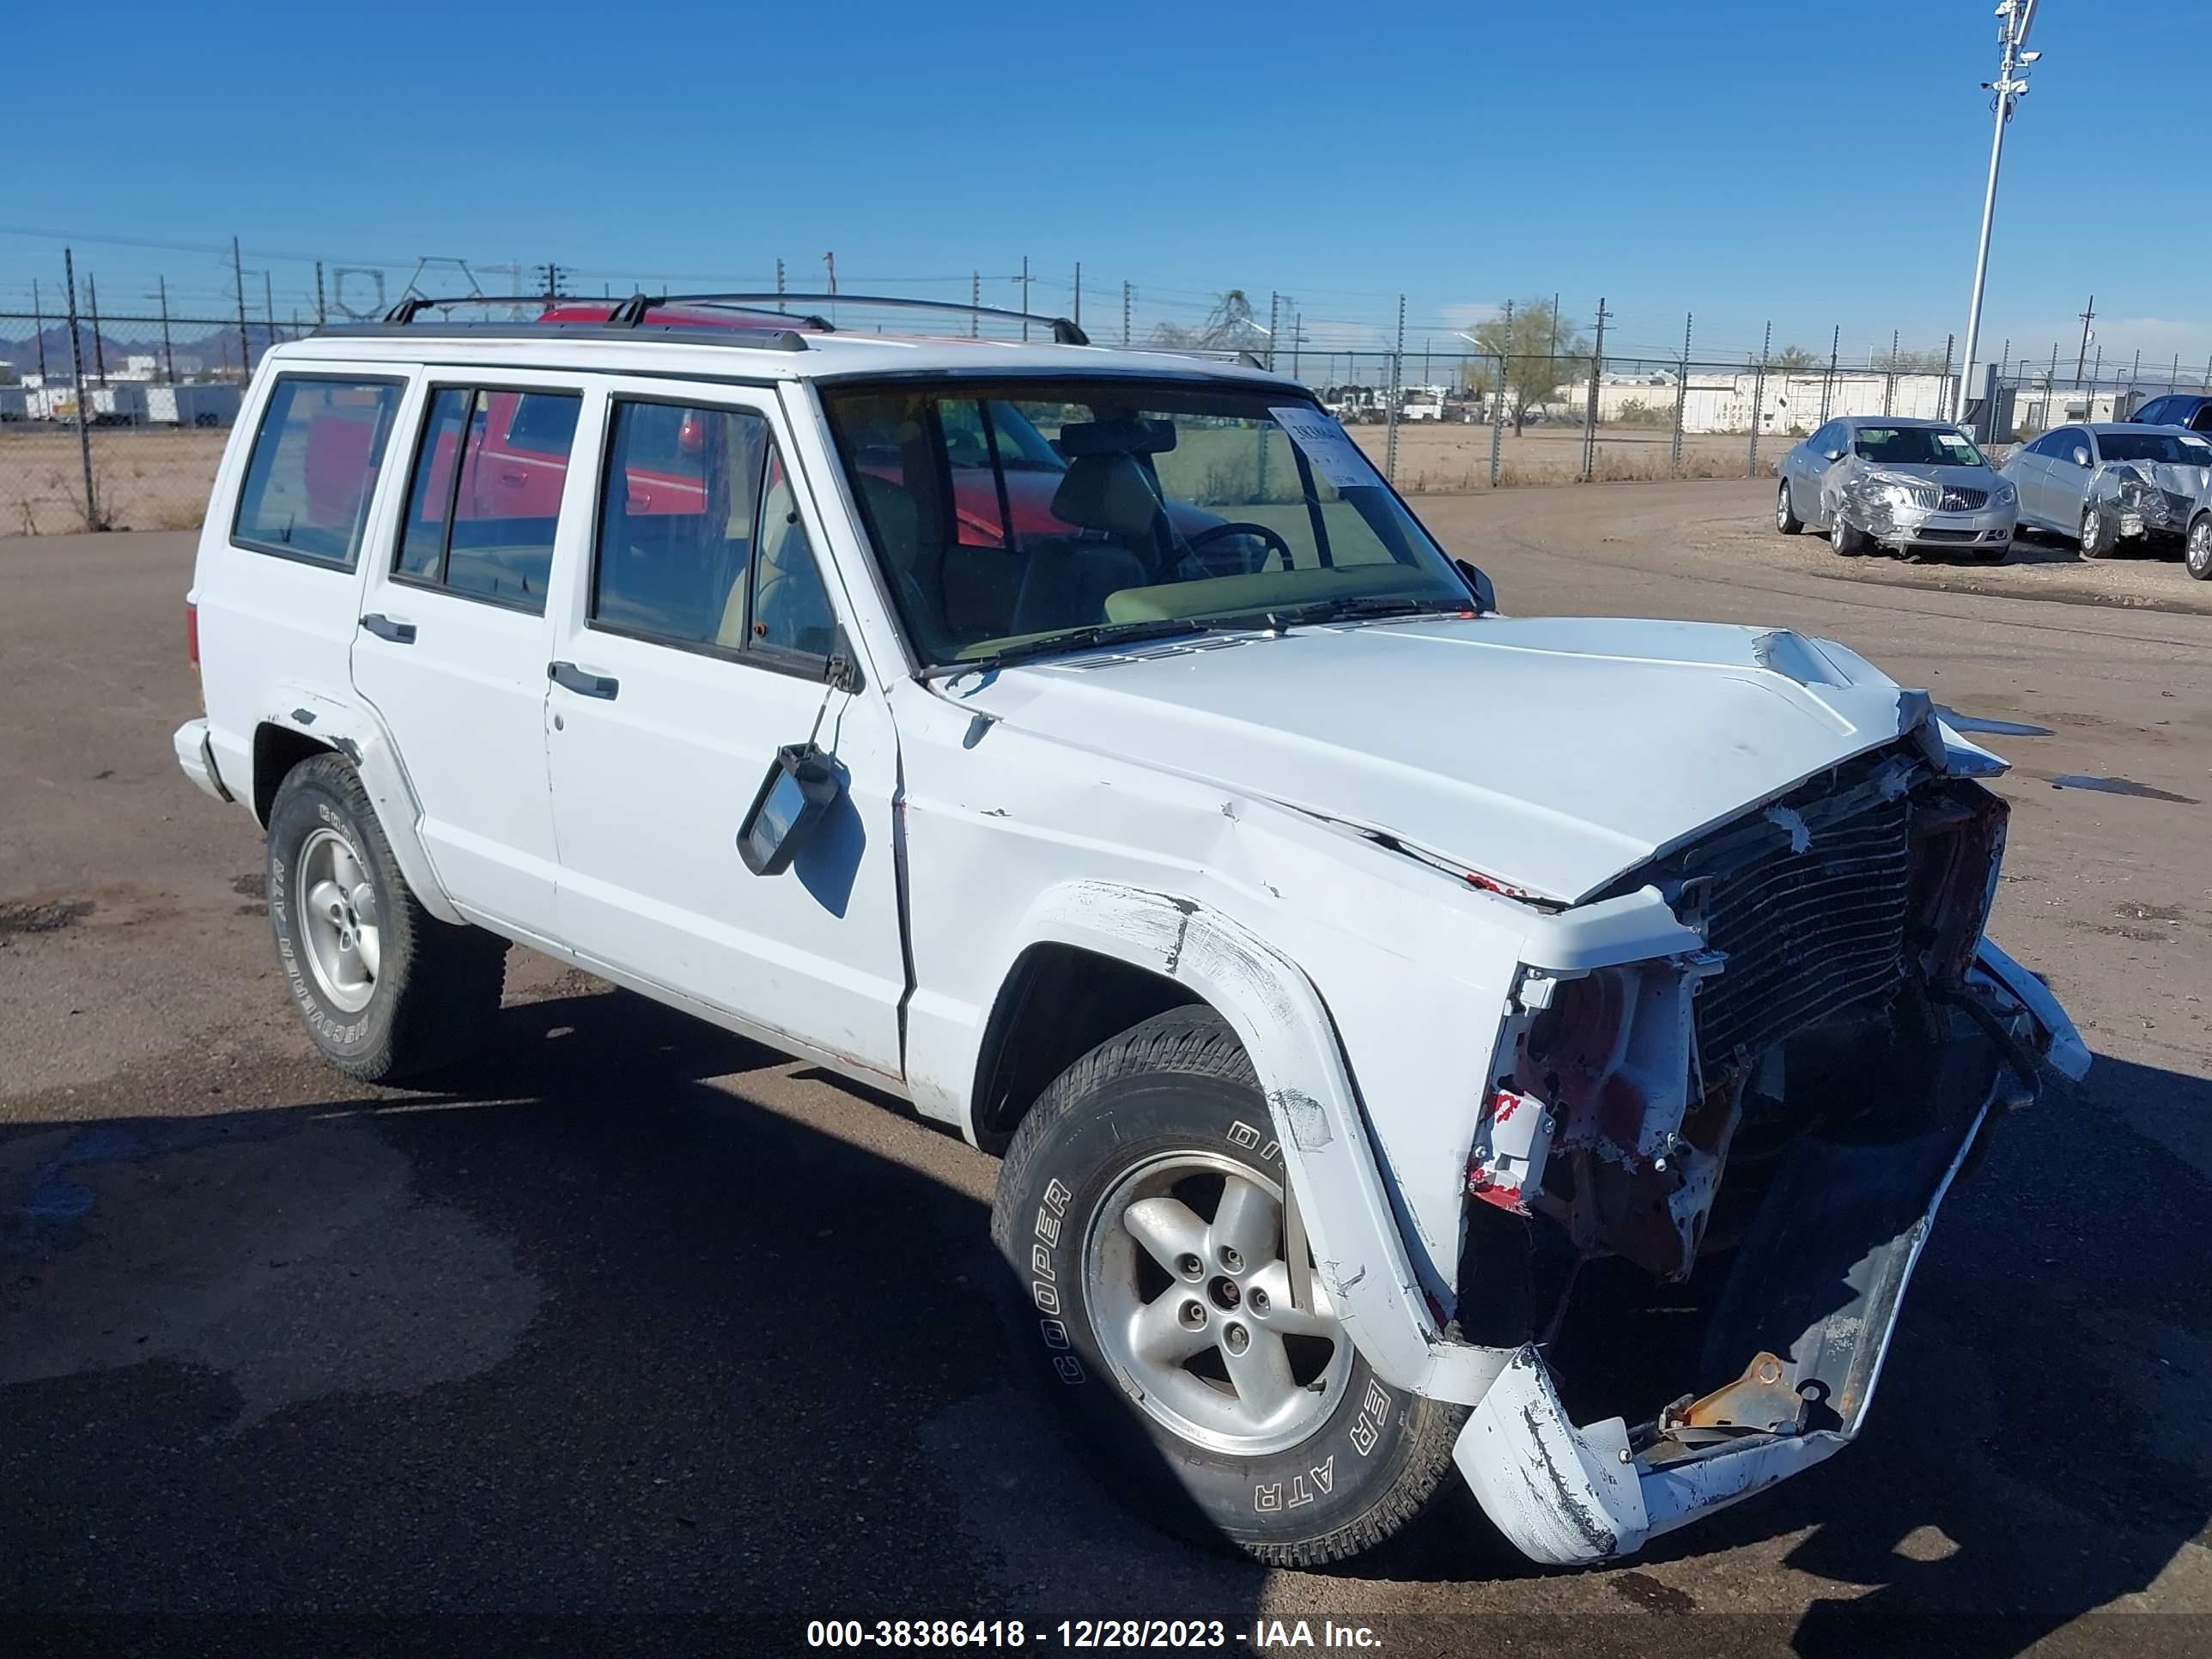
<svg viewBox="0 0 2212 1659"><path fill-rule="evenodd" d="M310 916L316 889L319 911L327 900L343 914ZM489 1033L507 940L422 909L361 776L336 754L301 761L276 785L268 905L285 989L323 1060L347 1077L438 1071Z"/></svg>

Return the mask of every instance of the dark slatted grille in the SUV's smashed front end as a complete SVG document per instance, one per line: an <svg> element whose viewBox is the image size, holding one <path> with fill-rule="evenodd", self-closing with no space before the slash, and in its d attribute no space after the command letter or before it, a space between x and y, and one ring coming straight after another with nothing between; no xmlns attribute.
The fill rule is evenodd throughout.
<svg viewBox="0 0 2212 1659"><path fill-rule="evenodd" d="M1898 982L1909 841L1900 796L1820 825L1805 852L1783 841L1714 878L1705 942L1728 967L1697 993L1708 1071Z"/></svg>

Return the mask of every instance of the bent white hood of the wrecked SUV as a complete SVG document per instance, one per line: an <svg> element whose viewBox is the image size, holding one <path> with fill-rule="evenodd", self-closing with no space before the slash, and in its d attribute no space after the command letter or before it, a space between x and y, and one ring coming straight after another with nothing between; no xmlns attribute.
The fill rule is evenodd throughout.
<svg viewBox="0 0 2212 1659"><path fill-rule="evenodd" d="M1610 617L1172 641L947 692L1013 730L1387 830L1564 902L1929 706L1832 641Z"/></svg>

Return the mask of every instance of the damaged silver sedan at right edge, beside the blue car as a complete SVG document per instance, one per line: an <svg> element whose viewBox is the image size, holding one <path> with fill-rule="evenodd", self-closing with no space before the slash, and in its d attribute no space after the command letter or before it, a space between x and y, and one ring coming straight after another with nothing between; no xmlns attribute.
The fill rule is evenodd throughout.
<svg viewBox="0 0 2212 1659"><path fill-rule="evenodd" d="M2077 422L2053 427L2004 462L2020 489L2020 522L2081 544L2101 560L2121 540L2174 542L2212 504L2212 445L2181 427ZM2212 526L2205 575L2212 575ZM2197 549L2190 549L2197 575Z"/></svg>

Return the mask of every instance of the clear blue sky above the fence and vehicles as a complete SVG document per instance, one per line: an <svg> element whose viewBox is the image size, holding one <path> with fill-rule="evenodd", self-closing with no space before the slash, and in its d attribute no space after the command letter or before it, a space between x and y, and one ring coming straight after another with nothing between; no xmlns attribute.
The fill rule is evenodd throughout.
<svg viewBox="0 0 2212 1659"><path fill-rule="evenodd" d="M2006 139L1984 345L2201 369L2208 215L2194 148L2208 0L2044 0ZM1119 4L1002 20L925 4L31 7L46 71L0 192L0 307L60 283L102 307L164 274L228 305L232 232L276 314L314 270L420 254L555 259L637 281L898 288L1190 321L1241 285L1318 341L1449 341L1511 296L1599 296L1626 349L1845 354L1964 332L1989 153L1991 0ZM97 51L88 51L97 33ZM93 64L80 97L69 75ZM2183 119L2181 126L2188 122ZM133 243L177 243L150 248ZM356 296L367 290L356 281ZM487 285L491 276L484 276ZM504 281L504 276L502 276ZM248 288L259 301L261 276Z"/></svg>

